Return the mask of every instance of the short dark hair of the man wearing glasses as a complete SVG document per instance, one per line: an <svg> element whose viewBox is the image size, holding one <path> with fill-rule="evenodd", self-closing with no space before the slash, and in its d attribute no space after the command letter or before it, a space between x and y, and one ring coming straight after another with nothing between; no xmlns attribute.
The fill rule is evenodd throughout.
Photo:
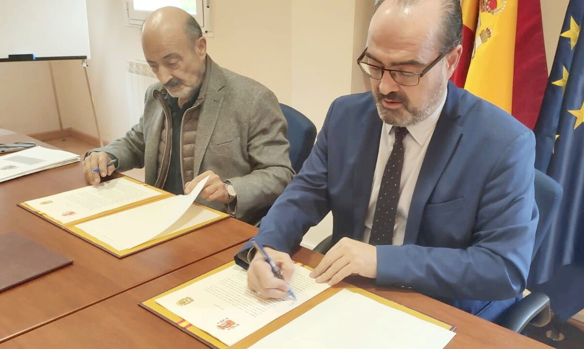
<svg viewBox="0 0 584 349"><path fill-rule="evenodd" d="M394 0L398 6L417 5L420 0ZM441 53L446 53L458 46L463 40L463 11L460 8L460 0L442 1L442 44ZM385 0L377 0L373 13Z"/></svg>

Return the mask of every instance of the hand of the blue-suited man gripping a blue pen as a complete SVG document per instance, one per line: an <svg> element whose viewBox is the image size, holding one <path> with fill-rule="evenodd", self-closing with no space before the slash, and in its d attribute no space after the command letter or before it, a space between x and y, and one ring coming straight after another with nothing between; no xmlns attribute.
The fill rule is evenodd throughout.
<svg viewBox="0 0 584 349"><path fill-rule="evenodd" d="M279 252L270 247L264 247L266 253L276 264L284 277L277 278L270 264L268 264L259 251L256 252L248 268L248 287L263 298L282 298L288 294L288 282L294 274L294 263L290 254Z"/></svg>

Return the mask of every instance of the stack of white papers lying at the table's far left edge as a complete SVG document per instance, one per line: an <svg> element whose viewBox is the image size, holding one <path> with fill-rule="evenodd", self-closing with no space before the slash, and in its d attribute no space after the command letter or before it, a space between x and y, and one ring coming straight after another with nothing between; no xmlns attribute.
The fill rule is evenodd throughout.
<svg viewBox="0 0 584 349"><path fill-rule="evenodd" d="M79 155L42 146L0 157L0 182L79 161Z"/></svg>

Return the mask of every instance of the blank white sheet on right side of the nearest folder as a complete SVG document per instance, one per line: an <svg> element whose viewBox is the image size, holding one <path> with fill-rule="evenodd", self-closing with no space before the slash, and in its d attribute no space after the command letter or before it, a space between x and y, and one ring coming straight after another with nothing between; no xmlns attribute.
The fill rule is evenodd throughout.
<svg viewBox="0 0 584 349"><path fill-rule="evenodd" d="M250 349L442 349L456 333L343 289Z"/></svg>

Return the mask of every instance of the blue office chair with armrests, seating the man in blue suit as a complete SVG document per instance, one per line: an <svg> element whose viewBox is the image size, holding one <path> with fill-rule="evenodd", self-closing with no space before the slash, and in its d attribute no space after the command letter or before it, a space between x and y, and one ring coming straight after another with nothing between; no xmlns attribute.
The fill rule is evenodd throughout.
<svg viewBox="0 0 584 349"><path fill-rule="evenodd" d="M537 224L536 239L533 246L533 254L531 255L532 260L545 235L550 231L551 222L558 212L559 202L562 198L562 187L539 170L536 170L534 186L540 220ZM332 235L322 240L314 250L325 254L331 247ZM550 298L543 292L533 292L507 309L505 313L496 319L495 323L520 333L527 324L543 327L550 322L550 319Z"/></svg>

